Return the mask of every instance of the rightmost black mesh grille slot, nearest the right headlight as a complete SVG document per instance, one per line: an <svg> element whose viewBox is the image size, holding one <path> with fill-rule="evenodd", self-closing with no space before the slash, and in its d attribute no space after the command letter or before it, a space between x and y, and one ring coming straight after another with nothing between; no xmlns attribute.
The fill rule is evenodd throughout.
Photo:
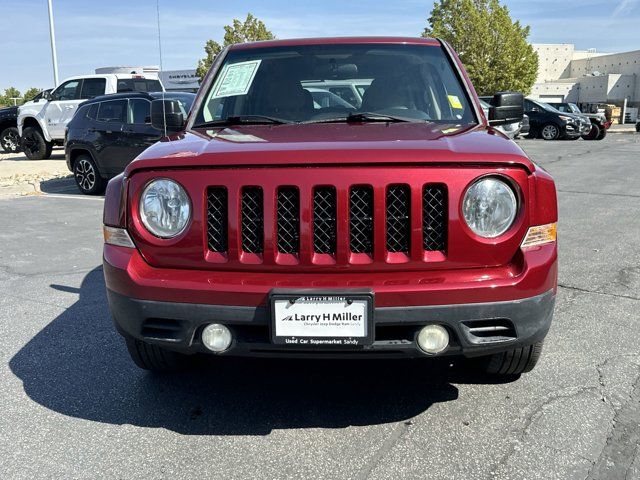
<svg viewBox="0 0 640 480"><path fill-rule="evenodd" d="M447 193L444 185L425 185L422 189L422 235L425 250L446 250Z"/></svg>

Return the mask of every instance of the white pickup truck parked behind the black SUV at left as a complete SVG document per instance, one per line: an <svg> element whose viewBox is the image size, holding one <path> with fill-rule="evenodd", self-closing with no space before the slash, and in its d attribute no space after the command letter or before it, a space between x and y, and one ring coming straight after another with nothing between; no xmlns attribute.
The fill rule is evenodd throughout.
<svg viewBox="0 0 640 480"><path fill-rule="evenodd" d="M85 100L110 93L163 90L155 76L103 74L68 78L42 100L18 109L22 149L31 160L49 158L54 145L64 144L65 127Z"/></svg>

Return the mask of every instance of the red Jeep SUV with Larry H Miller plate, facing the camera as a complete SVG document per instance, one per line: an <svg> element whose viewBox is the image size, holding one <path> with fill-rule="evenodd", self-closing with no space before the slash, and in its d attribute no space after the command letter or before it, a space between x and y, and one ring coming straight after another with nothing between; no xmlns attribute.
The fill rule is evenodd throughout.
<svg viewBox="0 0 640 480"><path fill-rule="evenodd" d="M108 185L104 274L133 360L459 355L531 370L557 206L551 177L493 128L522 100L497 94L487 119L434 39L227 48L188 118L152 103L167 135Z"/></svg>

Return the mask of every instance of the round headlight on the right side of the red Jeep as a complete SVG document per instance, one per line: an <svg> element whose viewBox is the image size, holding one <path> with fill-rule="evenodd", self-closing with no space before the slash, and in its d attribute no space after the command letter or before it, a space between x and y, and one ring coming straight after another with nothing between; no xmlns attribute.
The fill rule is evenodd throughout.
<svg viewBox="0 0 640 480"><path fill-rule="evenodd" d="M516 218L518 202L513 190L497 178L483 178L467 189L462 201L464 220L476 235L495 238Z"/></svg>

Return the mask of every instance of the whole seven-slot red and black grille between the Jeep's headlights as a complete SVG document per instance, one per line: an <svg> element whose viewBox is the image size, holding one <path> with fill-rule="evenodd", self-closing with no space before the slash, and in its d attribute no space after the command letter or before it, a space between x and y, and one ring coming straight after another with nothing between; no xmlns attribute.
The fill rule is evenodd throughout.
<svg viewBox="0 0 640 480"><path fill-rule="evenodd" d="M243 253L261 255L247 257L249 263L288 265L445 258L448 201L443 184L391 184L375 190L371 185L237 188L207 189L208 250L226 254L216 262L243 262Z"/></svg>

